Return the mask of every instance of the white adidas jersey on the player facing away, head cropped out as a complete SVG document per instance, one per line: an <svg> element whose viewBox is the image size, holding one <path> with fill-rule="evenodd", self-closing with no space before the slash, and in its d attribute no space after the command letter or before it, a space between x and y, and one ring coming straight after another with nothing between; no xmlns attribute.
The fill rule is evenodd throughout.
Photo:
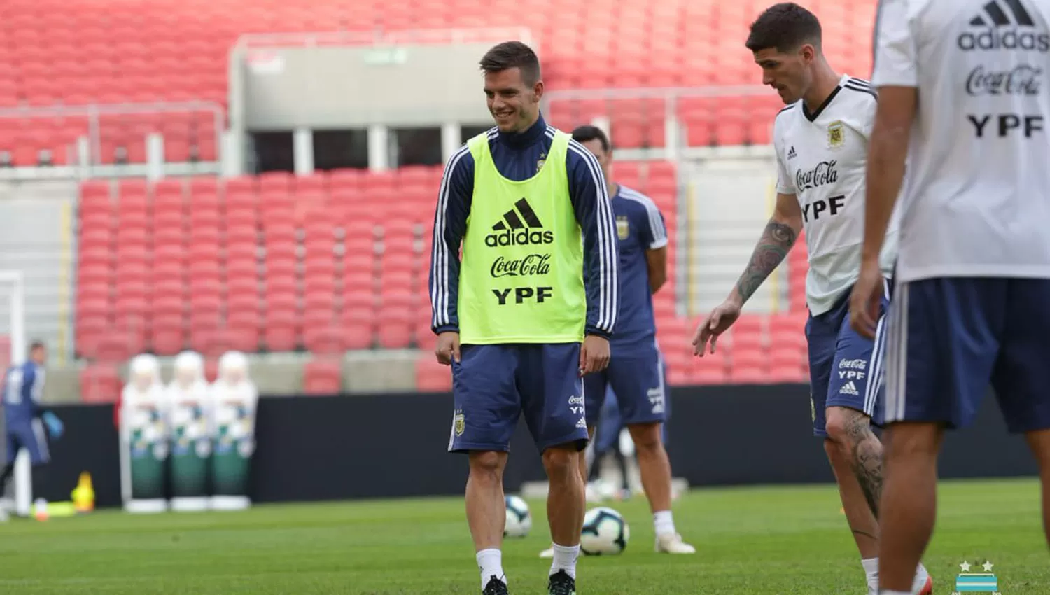
<svg viewBox="0 0 1050 595"><path fill-rule="evenodd" d="M897 276L1050 278L1050 0L883 0L875 84L918 89Z"/></svg>

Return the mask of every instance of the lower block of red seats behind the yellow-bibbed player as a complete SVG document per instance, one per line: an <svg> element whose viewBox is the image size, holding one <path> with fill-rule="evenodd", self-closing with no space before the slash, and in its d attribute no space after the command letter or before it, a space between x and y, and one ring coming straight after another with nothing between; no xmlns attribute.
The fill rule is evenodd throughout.
<svg viewBox="0 0 1050 595"><path fill-rule="evenodd" d="M616 172L653 194L673 230L669 166L624 162ZM333 328L334 350L428 348L440 178L440 168L404 168L85 182L77 353L316 352Z"/></svg>

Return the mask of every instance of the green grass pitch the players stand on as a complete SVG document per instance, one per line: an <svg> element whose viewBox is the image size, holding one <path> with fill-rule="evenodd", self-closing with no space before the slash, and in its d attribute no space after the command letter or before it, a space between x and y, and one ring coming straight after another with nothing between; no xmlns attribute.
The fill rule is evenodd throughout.
<svg viewBox="0 0 1050 595"><path fill-rule="evenodd" d="M531 535L504 545L512 594L545 593L542 502ZM580 595L865 593L832 486L694 490L676 503L692 556L652 551L644 497L611 506L631 525L621 556L586 557ZM1050 593L1038 485L942 483L926 566L954 591L964 560L994 564L1003 595ZM100 511L0 525L0 593L10 595L477 594L462 500L257 506L234 513Z"/></svg>

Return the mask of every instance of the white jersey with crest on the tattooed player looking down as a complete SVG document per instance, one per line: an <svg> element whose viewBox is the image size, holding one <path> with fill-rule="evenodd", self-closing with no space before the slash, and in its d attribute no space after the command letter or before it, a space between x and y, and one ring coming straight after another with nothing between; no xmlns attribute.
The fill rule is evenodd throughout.
<svg viewBox="0 0 1050 595"><path fill-rule="evenodd" d="M875 107L870 83L843 76L816 111L798 101L783 108L773 125L777 192L794 194L802 208L810 252L805 293L814 316L832 310L860 274L867 137ZM896 236L895 217L882 252L887 275Z"/></svg>

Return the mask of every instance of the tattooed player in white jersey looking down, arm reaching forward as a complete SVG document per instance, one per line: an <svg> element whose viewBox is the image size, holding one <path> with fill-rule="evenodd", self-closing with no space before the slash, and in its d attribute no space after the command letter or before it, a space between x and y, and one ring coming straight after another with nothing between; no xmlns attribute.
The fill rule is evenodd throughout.
<svg viewBox="0 0 1050 595"><path fill-rule="evenodd" d="M797 4L768 8L752 24L746 45L762 68L762 82L788 104L774 124L777 204L736 286L696 330L694 352L702 357L710 342L714 353L718 336L804 230L813 432L823 439L868 592L876 593L882 444L870 418L879 401L882 336L873 340L850 328L848 299L860 270L867 137L877 98L866 81L832 69L820 48L820 22ZM892 240L882 258L887 276ZM880 279L885 309L889 281ZM916 562L915 592L929 593L932 581Z"/></svg>

